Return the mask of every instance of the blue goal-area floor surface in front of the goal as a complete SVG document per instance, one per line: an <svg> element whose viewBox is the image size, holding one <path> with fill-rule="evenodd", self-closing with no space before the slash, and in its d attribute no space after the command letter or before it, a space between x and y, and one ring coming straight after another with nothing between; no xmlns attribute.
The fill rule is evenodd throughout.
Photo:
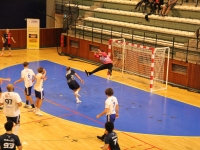
<svg viewBox="0 0 200 150"><path fill-rule="evenodd" d="M115 121L117 130L157 135L200 136L200 108L198 107L95 75L87 77L85 72L79 70L75 71L85 84L80 84L82 103L76 104L73 92L68 88L65 79L66 67L46 60L29 64L29 68L32 68L35 73L39 66L47 70L48 79L44 82L45 101L41 110L49 114L103 128L106 117L96 119L96 115L104 110L106 100L104 91L111 87L114 89L120 107L119 118ZM0 71L0 77L9 77L13 83L20 78L22 69L21 64L5 68ZM25 101L23 89L23 82L15 87L15 91ZM5 83L2 85L2 90L6 90Z"/></svg>

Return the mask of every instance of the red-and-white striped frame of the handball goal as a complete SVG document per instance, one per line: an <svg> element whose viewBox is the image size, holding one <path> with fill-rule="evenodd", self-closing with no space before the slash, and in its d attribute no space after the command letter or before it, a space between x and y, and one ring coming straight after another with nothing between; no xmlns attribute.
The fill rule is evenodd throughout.
<svg viewBox="0 0 200 150"><path fill-rule="evenodd" d="M117 44L118 46L115 47L121 47L121 53L116 54L116 51L112 49L112 45ZM113 66L114 69L117 69L118 71L121 71L122 76L124 76L125 70L125 61L128 61L128 54L127 49L134 49L141 53L148 53L147 55L151 55L150 57L150 64L149 64L149 75L141 75L137 72L131 72L132 74L136 76L140 76L143 78L150 79L150 92L158 91L158 90L166 90L167 84L168 84L168 70L169 70L169 54L170 54L170 48L169 47L161 47L161 48L153 48L148 46L143 46L139 44L133 44L133 43L127 43L124 38L121 39L110 39L108 41L108 55L113 58L113 64L116 61L116 59L119 59L120 61L120 67L116 68L115 65ZM133 51L134 51L133 50ZM117 50L118 51L118 50ZM160 56L159 56L160 55ZM116 58L118 57L118 58ZM161 59L161 63L159 66L158 58ZM118 60L117 60L118 61ZM167 61L166 70L164 70L164 63ZM127 63L128 64L128 63ZM130 66L130 65L129 65ZM162 73L160 73L162 72ZM165 72L165 74L164 74ZM158 74L160 73L161 77L158 77ZM166 75L166 78L164 80L164 76ZM162 78L162 79L159 79ZM159 87L158 89L154 88L156 87L158 82L162 82L162 87Z"/></svg>

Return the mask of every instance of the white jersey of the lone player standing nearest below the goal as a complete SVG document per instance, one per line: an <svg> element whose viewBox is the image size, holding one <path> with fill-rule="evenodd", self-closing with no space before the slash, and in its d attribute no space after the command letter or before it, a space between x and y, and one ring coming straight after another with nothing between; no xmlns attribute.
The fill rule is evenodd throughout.
<svg viewBox="0 0 200 150"><path fill-rule="evenodd" d="M106 115L116 114L115 108L118 105L117 98L115 96L110 96L105 101L105 108L109 108Z"/></svg>

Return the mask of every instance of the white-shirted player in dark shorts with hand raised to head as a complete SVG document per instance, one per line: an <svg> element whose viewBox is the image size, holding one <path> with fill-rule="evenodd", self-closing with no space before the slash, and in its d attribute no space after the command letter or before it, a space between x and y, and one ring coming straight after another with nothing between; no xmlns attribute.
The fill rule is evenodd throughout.
<svg viewBox="0 0 200 150"><path fill-rule="evenodd" d="M38 68L38 73L36 74L36 83L34 85L35 90L35 96L36 96L36 115L42 116L42 113L40 112L40 108L42 106L43 97L44 97L44 89L43 89L43 82L47 79L46 77L46 70L42 67Z"/></svg>

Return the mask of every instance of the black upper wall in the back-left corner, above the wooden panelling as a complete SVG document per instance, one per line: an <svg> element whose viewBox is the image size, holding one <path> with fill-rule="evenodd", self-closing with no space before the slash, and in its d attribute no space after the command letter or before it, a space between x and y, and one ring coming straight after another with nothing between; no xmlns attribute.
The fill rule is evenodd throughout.
<svg viewBox="0 0 200 150"><path fill-rule="evenodd" d="M26 18L40 19L40 27L46 27L46 0L0 0L0 11L0 29L26 28Z"/></svg>

